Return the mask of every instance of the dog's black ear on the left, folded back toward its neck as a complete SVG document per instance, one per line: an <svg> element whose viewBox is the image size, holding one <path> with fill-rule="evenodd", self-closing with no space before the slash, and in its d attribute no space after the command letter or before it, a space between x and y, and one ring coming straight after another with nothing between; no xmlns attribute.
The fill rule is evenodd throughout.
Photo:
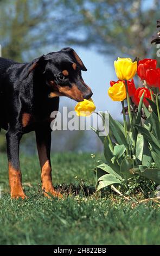
<svg viewBox="0 0 160 256"><path fill-rule="evenodd" d="M22 71L22 80L27 78L35 69L39 69L41 74L44 74L46 71L47 60L48 57L46 55L42 55L41 57L34 59L33 62L28 63Z"/></svg>

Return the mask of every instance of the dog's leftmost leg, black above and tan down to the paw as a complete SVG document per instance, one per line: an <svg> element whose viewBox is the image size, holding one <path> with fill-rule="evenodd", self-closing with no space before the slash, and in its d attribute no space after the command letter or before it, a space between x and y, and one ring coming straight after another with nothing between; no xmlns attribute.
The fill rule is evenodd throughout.
<svg viewBox="0 0 160 256"><path fill-rule="evenodd" d="M21 132L9 130L6 133L7 154L9 166L9 185L11 198L26 198L22 188L22 174L20 170L19 145Z"/></svg>

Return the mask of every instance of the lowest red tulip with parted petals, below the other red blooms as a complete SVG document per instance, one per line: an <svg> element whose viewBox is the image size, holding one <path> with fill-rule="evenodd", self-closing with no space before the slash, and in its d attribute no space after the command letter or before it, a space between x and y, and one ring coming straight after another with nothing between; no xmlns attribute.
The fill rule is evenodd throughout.
<svg viewBox="0 0 160 256"><path fill-rule="evenodd" d="M145 93L144 93L143 103L145 104L146 107L149 106L149 102L148 102L148 100L146 100L146 98L151 99L151 94L150 94L149 89L144 88L144 87L137 88L135 94L132 96L132 101L133 101L133 103L135 103L136 106L138 106L140 97L142 96L144 91L145 91Z"/></svg>

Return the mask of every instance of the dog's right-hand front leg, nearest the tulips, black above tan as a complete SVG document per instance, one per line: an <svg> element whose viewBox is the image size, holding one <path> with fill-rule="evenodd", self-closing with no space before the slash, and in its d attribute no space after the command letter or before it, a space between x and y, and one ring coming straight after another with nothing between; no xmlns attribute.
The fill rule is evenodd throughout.
<svg viewBox="0 0 160 256"><path fill-rule="evenodd" d="M61 193L54 190L52 184L52 167L50 164L50 144L51 144L51 129L50 123L40 125L36 129L36 142L37 150L39 153L40 165L41 165L41 180L42 190L44 196L49 197L52 194L54 197L61 198Z"/></svg>

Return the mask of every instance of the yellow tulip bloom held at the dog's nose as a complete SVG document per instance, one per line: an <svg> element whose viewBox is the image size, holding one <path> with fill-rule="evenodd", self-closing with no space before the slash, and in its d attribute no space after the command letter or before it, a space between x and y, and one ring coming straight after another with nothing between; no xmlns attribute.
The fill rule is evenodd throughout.
<svg viewBox="0 0 160 256"><path fill-rule="evenodd" d="M95 110L95 105L92 99L80 101L76 104L74 108L77 115L81 115L82 117L87 117L87 115L91 115Z"/></svg>

